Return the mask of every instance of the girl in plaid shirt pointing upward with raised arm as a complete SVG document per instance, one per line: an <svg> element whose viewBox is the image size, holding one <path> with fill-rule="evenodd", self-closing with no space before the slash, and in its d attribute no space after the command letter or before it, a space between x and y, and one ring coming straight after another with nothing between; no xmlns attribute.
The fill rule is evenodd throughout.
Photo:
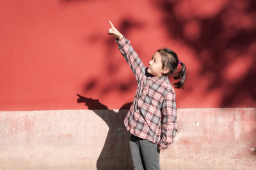
<svg viewBox="0 0 256 170"><path fill-rule="evenodd" d="M125 117L124 124L130 132L129 141L134 169L160 169L160 150L173 143L177 132L175 91L168 75L181 71L174 78L177 89L184 89L186 67L175 52L168 48L157 50L145 67L130 41L111 24L108 34L116 38L118 48L138 81L134 101Z"/></svg>

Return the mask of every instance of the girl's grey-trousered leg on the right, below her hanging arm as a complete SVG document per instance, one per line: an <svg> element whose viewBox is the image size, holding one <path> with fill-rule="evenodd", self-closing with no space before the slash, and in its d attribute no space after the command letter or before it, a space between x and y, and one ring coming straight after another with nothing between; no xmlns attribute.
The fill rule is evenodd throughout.
<svg viewBox="0 0 256 170"><path fill-rule="evenodd" d="M157 144L145 139L140 139L139 145L146 169L160 170L160 151L157 149Z"/></svg>

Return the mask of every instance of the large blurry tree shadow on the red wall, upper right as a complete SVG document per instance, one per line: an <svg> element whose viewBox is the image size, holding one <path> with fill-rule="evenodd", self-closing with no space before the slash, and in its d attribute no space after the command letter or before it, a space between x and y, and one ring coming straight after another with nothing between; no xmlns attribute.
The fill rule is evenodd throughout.
<svg viewBox="0 0 256 170"><path fill-rule="evenodd" d="M246 98L255 101L256 58L252 46L256 29L253 22L244 22L254 20L255 1L227 1L212 6L213 14L208 17L204 16L204 8L210 4L196 2L161 0L154 4L163 14L162 23L170 39L182 41L195 50L200 66L198 81L209 82L205 90L222 89L220 107L246 103Z"/></svg>

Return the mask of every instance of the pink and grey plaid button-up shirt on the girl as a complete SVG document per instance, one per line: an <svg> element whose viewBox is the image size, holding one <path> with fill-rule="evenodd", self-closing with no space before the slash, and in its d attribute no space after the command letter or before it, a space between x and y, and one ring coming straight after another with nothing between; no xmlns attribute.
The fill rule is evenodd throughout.
<svg viewBox="0 0 256 170"><path fill-rule="evenodd" d="M116 39L116 43L138 81L134 101L124 120L125 127L134 136L167 148L177 132L173 86L167 76L156 78L147 73L128 39Z"/></svg>

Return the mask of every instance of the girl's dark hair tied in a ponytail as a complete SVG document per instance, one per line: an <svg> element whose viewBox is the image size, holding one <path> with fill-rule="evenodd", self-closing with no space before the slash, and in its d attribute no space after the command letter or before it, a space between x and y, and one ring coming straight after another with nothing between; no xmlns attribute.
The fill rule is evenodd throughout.
<svg viewBox="0 0 256 170"><path fill-rule="evenodd" d="M162 57L163 68L168 67L170 70L168 73L164 74L164 76L168 76L175 72L180 64L182 67L181 70L177 72L177 75L173 76L175 80L180 79L180 81L173 83L173 85L177 89L184 89L183 85L186 78L185 64L183 62L179 62L177 54L168 48L159 49L157 52L159 52Z"/></svg>

